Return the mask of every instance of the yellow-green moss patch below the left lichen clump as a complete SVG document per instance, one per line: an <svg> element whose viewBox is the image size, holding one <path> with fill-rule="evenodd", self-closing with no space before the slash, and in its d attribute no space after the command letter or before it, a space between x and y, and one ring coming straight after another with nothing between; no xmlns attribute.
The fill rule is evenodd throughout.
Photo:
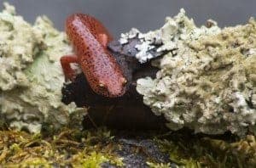
<svg viewBox="0 0 256 168"><path fill-rule="evenodd" d="M1 131L0 163L9 167L99 167L103 162L124 165L112 152L112 139L105 128L84 132L63 130L55 136Z"/></svg>

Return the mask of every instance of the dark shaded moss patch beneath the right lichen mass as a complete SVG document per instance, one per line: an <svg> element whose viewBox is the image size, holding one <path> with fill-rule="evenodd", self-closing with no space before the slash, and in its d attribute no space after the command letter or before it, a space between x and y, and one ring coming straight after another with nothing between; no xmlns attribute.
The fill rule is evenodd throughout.
<svg viewBox="0 0 256 168"><path fill-rule="evenodd" d="M183 167L255 167L256 141L224 135L206 137L185 132L172 132L165 138L155 138L172 163ZM154 166L153 166L154 167Z"/></svg>

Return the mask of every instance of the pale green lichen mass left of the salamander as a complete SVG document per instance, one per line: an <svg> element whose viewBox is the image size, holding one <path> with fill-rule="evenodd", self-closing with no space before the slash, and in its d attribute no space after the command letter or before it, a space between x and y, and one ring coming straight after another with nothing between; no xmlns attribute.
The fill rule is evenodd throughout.
<svg viewBox="0 0 256 168"><path fill-rule="evenodd" d="M5 3L0 13L0 112L4 122L40 132L43 125L58 129L72 117L82 120L85 111L61 102L64 76L59 60L67 53L72 48L66 35L56 31L45 16L30 25Z"/></svg>

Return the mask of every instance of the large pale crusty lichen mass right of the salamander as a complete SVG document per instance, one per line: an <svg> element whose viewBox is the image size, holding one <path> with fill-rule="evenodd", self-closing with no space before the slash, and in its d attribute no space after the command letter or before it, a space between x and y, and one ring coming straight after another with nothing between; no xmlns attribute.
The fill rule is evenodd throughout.
<svg viewBox="0 0 256 168"><path fill-rule="evenodd" d="M137 92L172 130L241 136L256 121L256 22L223 30L207 25L196 27L182 10L159 31L139 35L160 39L167 52L154 61L156 79L139 79Z"/></svg>

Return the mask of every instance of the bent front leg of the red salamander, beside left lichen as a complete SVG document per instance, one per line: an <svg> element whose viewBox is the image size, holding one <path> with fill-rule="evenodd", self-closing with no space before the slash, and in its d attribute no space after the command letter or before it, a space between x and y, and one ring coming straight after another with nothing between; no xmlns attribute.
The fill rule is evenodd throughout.
<svg viewBox="0 0 256 168"><path fill-rule="evenodd" d="M78 57L76 55L65 55L61 57L61 66L66 81L73 81L76 77L75 70L72 69L71 63L78 63Z"/></svg>

